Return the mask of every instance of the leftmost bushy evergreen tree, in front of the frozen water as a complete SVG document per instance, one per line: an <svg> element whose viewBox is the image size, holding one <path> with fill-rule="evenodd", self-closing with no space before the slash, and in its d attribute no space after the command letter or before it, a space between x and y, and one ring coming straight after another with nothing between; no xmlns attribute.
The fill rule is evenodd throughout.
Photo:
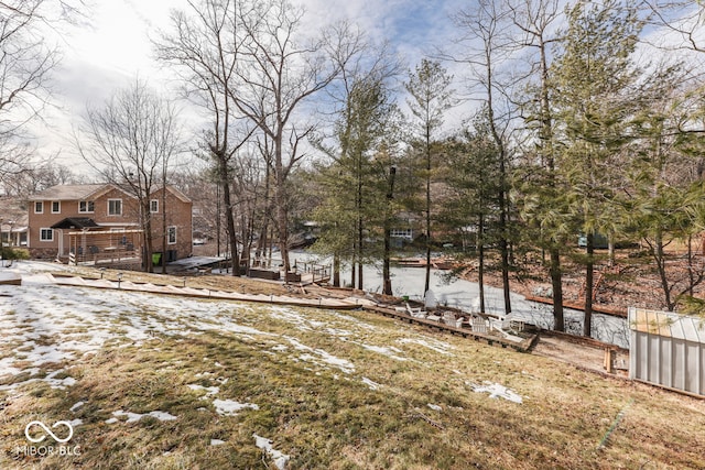
<svg viewBox="0 0 705 470"><path fill-rule="evenodd" d="M314 217L324 231L317 250L349 263L352 287L357 283L362 288L362 266L379 258L377 241L388 214L397 116L384 79L368 75L350 88L335 125L337 146L318 143L333 163L321 168L325 195Z"/></svg>

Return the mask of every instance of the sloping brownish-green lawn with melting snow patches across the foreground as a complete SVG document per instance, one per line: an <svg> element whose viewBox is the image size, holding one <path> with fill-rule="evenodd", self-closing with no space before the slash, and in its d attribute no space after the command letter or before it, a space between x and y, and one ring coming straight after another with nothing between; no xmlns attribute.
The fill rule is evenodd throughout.
<svg viewBox="0 0 705 470"><path fill-rule="evenodd" d="M0 314L2 469L705 468L704 401L546 358L364 311L51 295L75 304ZM32 420L80 455L23 452Z"/></svg>

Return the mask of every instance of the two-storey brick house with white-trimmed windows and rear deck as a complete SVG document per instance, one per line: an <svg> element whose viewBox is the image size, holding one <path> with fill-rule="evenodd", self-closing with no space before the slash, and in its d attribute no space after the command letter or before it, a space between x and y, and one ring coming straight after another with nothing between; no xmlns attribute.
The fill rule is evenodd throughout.
<svg viewBox="0 0 705 470"><path fill-rule="evenodd" d="M164 199L165 197L165 199ZM57 185L29 197L32 258L78 261L141 256L144 234L138 198L115 184ZM192 201L174 187L150 196L154 252L166 261L192 254ZM166 231L164 232L164 217Z"/></svg>

